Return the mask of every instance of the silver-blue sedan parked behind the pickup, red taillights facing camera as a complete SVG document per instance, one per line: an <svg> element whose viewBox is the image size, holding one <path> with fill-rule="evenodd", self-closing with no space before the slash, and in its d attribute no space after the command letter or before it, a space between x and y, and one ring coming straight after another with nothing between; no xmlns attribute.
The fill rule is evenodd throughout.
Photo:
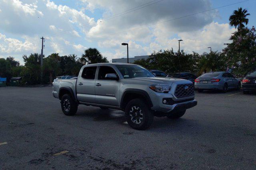
<svg viewBox="0 0 256 170"><path fill-rule="evenodd" d="M228 89L240 89L241 83L229 72L208 72L196 78L195 88L198 92L211 89L227 92Z"/></svg>

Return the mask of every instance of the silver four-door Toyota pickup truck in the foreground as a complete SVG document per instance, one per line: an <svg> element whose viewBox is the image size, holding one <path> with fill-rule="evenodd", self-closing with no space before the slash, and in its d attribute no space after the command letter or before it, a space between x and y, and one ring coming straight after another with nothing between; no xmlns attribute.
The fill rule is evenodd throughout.
<svg viewBox="0 0 256 170"><path fill-rule="evenodd" d="M125 63L85 65L77 80L55 79L52 94L61 100L65 115L74 115L79 104L120 109L138 130L148 128L154 116L177 119L197 104L192 82L156 77L140 65Z"/></svg>

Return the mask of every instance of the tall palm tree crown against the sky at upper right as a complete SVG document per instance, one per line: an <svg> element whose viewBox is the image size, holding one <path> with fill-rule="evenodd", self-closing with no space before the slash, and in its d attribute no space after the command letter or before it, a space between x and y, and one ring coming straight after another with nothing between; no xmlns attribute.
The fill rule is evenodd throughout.
<svg viewBox="0 0 256 170"><path fill-rule="evenodd" d="M250 14L246 14L248 11L246 9L238 8L238 10L234 10L233 14L229 17L230 25L238 27L238 30L245 27L248 24L248 18ZM245 25L244 25L245 23Z"/></svg>

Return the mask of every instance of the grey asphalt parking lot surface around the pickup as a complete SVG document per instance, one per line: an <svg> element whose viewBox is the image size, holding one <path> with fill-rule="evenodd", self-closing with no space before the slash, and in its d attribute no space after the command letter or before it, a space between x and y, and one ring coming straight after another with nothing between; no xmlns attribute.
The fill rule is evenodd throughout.
<svg viewBox="0 0 256 170"><path fill-rule="evenodd" d="M178 120L131 129L124 112L79 106L52 88L0 88L0 169L256 169L256 95L196 92Z"/></svg>

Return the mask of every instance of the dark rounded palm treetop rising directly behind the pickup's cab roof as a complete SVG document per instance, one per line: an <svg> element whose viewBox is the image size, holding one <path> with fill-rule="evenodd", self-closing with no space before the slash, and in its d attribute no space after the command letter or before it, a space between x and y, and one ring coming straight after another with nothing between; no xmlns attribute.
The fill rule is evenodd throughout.
<svg viewBox="0 0 256 170"><path fill-rule="evenodd" d="M89 48L84 50L84 54L80 58L82 64L94 64L94 63L109 63L106 57L102 57L102 54L96 48Z"/></svg>

